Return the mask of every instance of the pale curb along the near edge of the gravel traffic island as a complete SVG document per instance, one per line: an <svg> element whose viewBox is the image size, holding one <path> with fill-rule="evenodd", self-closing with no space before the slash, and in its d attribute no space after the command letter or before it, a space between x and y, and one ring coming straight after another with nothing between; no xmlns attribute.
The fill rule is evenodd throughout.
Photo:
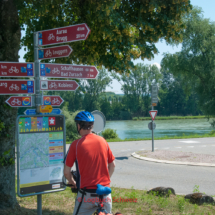
<svg viewBox="0 0 215 215"><path fill-rule="evenodd" d="M188 165L188 166L206 166L206 167L215 167L215 164L211 163L194 163L194 162L179 162L179 161L168 161L168 160L157 160L154 158L146 158L143 156L140 156L133 152L131 154L132 157L140 159L140 160L145 160L145 161L151 161L151 162L156 162L156 163L165 163L165 164L176 164L176 165Z"/></svg>

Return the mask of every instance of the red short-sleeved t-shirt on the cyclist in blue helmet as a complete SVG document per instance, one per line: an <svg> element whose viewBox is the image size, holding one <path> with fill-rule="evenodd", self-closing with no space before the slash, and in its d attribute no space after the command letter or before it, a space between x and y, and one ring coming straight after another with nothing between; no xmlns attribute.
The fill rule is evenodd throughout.
<svg viewBox="0 0 215 215"><path fill-rule="evenodd" d="M91 133L72 142L65 164L72 167L76 163L78 188L96 189L97 184L110 186L108 163L114 159L106 140Z"/></svg>

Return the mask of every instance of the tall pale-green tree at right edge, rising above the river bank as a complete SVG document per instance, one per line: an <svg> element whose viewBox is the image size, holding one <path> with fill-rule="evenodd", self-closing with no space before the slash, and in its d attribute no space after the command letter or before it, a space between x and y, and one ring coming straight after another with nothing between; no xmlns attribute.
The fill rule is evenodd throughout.
<svg viewBox="0 0 215 215"><path fill-rule="evenodd" d="M194 88L205 114L214 116L215 24L204 19L199 8L185 17L182 50L165 54L161 66L173 75L181 74L186 92Z"/></svg>

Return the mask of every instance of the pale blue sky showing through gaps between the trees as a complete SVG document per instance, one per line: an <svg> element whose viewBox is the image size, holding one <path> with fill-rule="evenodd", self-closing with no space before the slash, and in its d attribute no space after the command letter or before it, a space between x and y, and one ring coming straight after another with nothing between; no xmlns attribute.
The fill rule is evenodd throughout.
<svg viewBox="0 0 215 215"><path fill-rule="evenodd" d="M215 21L215 12L214 12L215 0L191 0L191 4L193 6L198 6L198 7L202 8L204 18L209 18L211 21ZM22 31L22 34L24 34L23 31ZM163 58L163 53L169 52L169 53L173 54L177 51L180 51L180 49L181 49L180 45L178 47L176 47L176 46L172 47L170 45L166 45L165 41L158 42L156 44L156 47L157 47L159 53L154 56L154 59L152 59L151 61L149 61L149 60L142 61L141 59L137 59L137 60L134 60L134 64L137 64L137 63L143 63L143 64L149 64L149 65L155 64L158 66L158 68L160 68L160 63ZM19 51L19 55L20 55L19 62L25 62L25 60L23 59L24 54L25 54L25 51L24 51L24 47L23 47ZM111 86L106 88L106 91L114 92L116 94L123 94L123 92L121 91L121 84L116 80L113 80Z"/></svg>

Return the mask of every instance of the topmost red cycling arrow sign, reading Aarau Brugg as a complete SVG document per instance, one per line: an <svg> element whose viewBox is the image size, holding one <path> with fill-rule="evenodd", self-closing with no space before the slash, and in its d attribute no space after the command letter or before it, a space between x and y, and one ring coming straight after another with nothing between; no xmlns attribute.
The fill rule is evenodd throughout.
<svg viewBox="0 0 215 215"><path fill-rule="evenodd" d="M90 29L85 23L40 31L38 32L38 45L47 46L86 40L89 34Z"/></svg>

